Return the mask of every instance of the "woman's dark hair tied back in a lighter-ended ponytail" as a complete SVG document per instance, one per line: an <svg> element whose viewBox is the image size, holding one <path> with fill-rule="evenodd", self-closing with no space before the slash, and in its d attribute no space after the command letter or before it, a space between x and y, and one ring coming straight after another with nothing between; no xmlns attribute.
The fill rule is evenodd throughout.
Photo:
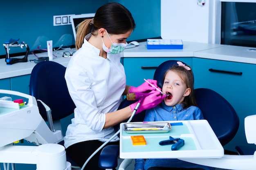
<svg viewBox="0 0 256 170"><path fill-rule="evenodd" d="M84 20L77 26L76 49L81 48L85 35L94 35L100 28L108 30L110 34L124 34L135 29L135 22L130 11L123 5L117 2L104 4L97 9L93 20Z"/></svg>

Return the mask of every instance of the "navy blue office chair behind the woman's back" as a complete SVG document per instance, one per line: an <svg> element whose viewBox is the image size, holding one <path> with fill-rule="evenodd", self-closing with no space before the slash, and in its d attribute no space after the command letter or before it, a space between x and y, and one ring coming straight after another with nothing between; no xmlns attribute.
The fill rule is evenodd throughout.
<svg viewBox="0 0 256 170"><path fill-rule="evenodd" d="M67 90L64 78L65 66L52 61L40 62L34 66L29 84L29 93L36 99L43 101L52 110L54 129L61 130L61 119L74 113L76 107ZM45 107L38 102L39 113L45 121L47 113ZM59 144L64 145L64 141ZM72 168L80 168L67 156Z"/></svg>

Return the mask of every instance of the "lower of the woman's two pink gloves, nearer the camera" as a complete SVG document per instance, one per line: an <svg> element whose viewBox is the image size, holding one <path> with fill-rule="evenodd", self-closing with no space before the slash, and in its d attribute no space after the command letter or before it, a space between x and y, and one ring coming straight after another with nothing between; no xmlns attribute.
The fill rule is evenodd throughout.
<svg viewBox="0 0 256 170"><path fill-rule="evenodd" d="M164 99L164 97L166 97L165 94L161 94L159 91L151 91L150 95L141 98L138 102L140 102L140 106L139 109L137 110L136 114L141 113L143 110L147 110L149 108L153 108L155 106L157 106L159 103L161 103ZM134 108L136 107L137 103L131 104L130 108L133 111Z"/></svg>

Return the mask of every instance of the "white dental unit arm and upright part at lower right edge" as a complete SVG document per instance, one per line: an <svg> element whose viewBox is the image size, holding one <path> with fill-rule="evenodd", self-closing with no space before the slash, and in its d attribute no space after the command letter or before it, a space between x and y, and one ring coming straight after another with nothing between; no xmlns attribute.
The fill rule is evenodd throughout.
<svg viewBox="0 0 256 170"><path fill-rule="evenodd" d="M245 136L248 144L256 144L256 115L245 117ZM179 158L180 159L180 158ZM180 159L183 161L197 163L204 166L229 170L255 170L256 169L256 151L254 155L224 155L218 159L200 158L200 159Z"/></svg>

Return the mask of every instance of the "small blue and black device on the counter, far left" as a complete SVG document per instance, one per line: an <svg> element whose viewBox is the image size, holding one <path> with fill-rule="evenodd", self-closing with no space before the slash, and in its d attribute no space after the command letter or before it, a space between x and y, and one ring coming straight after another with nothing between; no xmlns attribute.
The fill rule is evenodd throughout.
<svg viewBox="0 0 256 170"><path fill-rule="evenodd" d="M5 62L7 65L11 65L14 63L18 63L18 62L27 62L27 56L29 54L29 46L27 44L25 44L25 42L19 43L18 40L20 40L20 39L13 40L11 38L8 42L4 42L4 44L3 44L5 51L6 51ZM10 57L10 47L20 47L21 49L23 49L24 46L26 47L27 51L23 58L11 58Z"/></svg>

